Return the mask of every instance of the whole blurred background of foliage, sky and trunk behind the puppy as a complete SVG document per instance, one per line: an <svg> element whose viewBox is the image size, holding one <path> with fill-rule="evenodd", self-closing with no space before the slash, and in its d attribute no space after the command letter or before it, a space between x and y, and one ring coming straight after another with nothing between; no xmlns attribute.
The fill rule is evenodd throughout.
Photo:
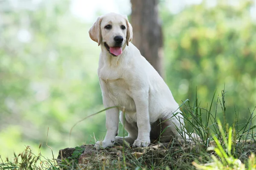
<svg viewBox="0 0 256 170"><path fill-rule="evenodd" d="M0 155L26 145L50 157L105 136L97 77L100 48L88 30L108 12L128 15L133 43L181 104L203 108L225 85L227 121L256 105L256 0L0 0ZM141 34L141 32L145 34ZM142 45L143 43L143 45ZM217 98L215 96L214 101ZM216 102L215 102L216 103ZM248 111L249 110L249 111ZM223 120L223 114L218 112ZM255 124L255 122L254 122Z"/></svg>

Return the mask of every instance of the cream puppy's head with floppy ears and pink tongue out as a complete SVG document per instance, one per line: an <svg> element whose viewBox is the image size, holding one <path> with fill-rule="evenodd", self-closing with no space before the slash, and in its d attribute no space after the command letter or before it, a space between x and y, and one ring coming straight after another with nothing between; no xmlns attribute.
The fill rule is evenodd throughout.
<svg viewBox="0 0 256 170"><path fill-rule="evenodd" d="M132 39L132 27L127 16L109 13L97 18L89 35L98 45L102 43L112 56L118 56Z"/></svg>

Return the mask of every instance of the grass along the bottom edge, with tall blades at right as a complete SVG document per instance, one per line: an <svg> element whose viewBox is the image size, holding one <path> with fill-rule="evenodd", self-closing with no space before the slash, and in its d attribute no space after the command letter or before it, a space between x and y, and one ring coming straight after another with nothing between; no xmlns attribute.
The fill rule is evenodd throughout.
<svg viewBox="0 0 256 170"><path fill-rule="evenodd" d="M256 153L254 133L256 125L253 125L255 108L253 111L248 111L250 117L244 125L239 125L239 114L234 108L236 118L233 124L229 125L227 123L225 94L225 90L221 91L221 96L214 94L206 108L200 107L197 93L194 103L186 100L180 105L186 123L187 135L191 136L191 132L195 132L200 137L200 141L193 139L193 144L190 142L178 146L175 141L172 141L157 150L150 147L137 150L123 145L119 149L120 156L118 159L115 159L116 157L105 159L105 157L110 157L112 153L119 152L115 148L99 150L95 153L96 160L94 163L91 161L90 166L85 166L86 169L255 170L256 158L253 154ZM216 105L214 105L214 101L216 101ZM222 123L217 117L217 113L220 111L223 115ZM184 136L183 131L180 131L180 134ZM33 153L30 147L26 147L23 153L18 155L14 153L12 159L0 157L0 169L62 170L84 168L77 166L78 158L85 150L82 147L76 147L72 156L63 159L61 164L57 164L53 154L52 159L42 156L40 147L41 145L37 154Z"/></svg>

